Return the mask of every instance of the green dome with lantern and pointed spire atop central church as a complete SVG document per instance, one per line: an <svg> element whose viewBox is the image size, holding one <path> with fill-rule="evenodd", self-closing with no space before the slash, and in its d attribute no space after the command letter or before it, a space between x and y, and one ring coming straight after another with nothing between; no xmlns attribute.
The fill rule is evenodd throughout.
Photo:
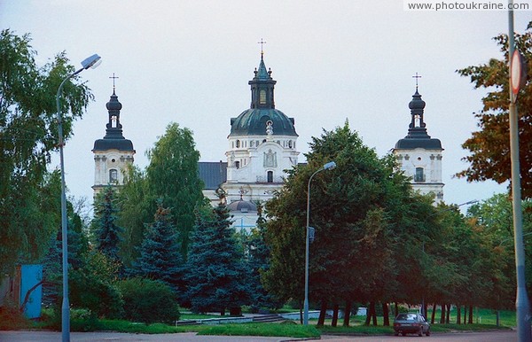
<svg viewBox="0 0 532 342"><path fill-rule="evenodd" d="M273 136L298 136L293 118L275 109L276 81L271 78L271 70L267 71L262 53L259 68L254 70L254 78L248 83L251 86L251 106L237 118L231 118L229 136L265 136L268 121L271 121Z"/></svg>

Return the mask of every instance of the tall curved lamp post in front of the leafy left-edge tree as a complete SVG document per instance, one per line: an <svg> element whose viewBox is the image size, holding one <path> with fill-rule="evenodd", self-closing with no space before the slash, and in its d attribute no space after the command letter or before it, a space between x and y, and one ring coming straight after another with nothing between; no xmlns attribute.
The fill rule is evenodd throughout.
<svg viewBox="0 0 532 342"><path fill-rule="evenodd" d="M63 157L63 119L61 117L61 107L59 97L65 82L70 80L76 74L80 74L88 68L95 68L101 63L101 58L95 54L82 61L82 68L70 74L59 85L56 95L58 106L58 130L59 130L59 160L61 169L61 235L62 235L62 253L63 253L63 304L61 307L61 332L63 342L70 341L70 303L68 301L68 239L67 239L67 222L66 222L66 194L65 194L65 163Z"/></svg>

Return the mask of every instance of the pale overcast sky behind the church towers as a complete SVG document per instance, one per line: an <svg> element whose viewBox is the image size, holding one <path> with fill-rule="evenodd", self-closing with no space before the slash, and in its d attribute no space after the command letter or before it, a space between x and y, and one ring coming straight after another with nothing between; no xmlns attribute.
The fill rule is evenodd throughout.
<svg viewBox="0 0 532 342"><path fill-rule="evenodd" d="M515 12L516 32L531 13ZM461 144L477 129L485 94L456 70L502 58L492 37L508 32L507 12L406 12L400 0L0 0L0 25L31 34L40 66L60 51L76 68L93 53L103 59L81 74L96 100L66 143L75 197L92 198L91 149L105 135L113 73L138 166L172 121L192 129L201 160L225 161L231 117L249 108L261 39L276 108L295 119L300 161L311 136L346 120L380 156L389 152L407 134L419 73L428 134L445 149L445 202L506 190L453 175L467 167Z"/></svg>

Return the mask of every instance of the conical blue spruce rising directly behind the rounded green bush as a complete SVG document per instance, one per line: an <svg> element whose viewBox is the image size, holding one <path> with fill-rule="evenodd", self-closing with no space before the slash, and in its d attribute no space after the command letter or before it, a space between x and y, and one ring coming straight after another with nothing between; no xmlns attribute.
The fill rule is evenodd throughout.
<svg viewBox="0 0 532 342"><path fill-rule="evenodd" d="M145 239L139 249L140 256L133 262L133 276L160 280L175 291L182 290L183 257L177 241L176 226L168 208L157 202L153 224L145 230Z"/></svg>

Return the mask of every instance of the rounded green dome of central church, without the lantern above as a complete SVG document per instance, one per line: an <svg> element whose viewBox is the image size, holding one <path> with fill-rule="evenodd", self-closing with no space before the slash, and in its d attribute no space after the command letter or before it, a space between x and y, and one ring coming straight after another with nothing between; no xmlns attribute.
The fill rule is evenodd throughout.
<svg viewBox="0 0 532 342"><path fill-rule="evenodd" d="M298 136L293 118L274 108L250 108L231 119L229 136L266 136L267 122L271 121L273 136Z"/></svg>

